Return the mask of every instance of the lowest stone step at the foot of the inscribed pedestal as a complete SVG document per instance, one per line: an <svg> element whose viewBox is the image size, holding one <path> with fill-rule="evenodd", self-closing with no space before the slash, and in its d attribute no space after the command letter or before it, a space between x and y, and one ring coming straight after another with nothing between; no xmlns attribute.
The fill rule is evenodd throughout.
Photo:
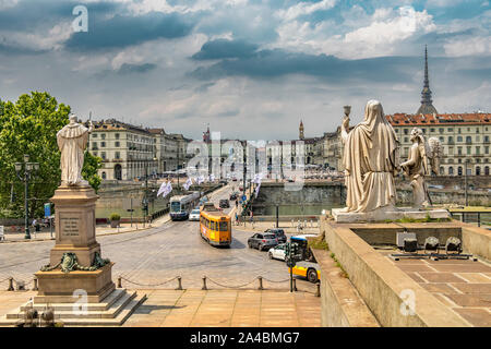
<svg viewBox="0 0 491 349"><path fill-rule="evenodd" d="M140 296L136 292L127 294L128 297L124 297L123 299L120 299L117 303L115 303L109 311L113 311L112 308L117 309L117 311L112 312L113 317L105 317L105 316L98 316L98 317L81 317L76 316L76 318L70 317L63 317L60 318L57 317L56 322L63 323L63 326L91 326L91 327L98 327L98 326L120 326L122 325L127 318L136 310L140 304L142 304L146 300L146 294ZM100 313L100 312L99 312ZM93 313L94 315L95 313ZM72 314L73 315L73 314ZM21 323L22 318L7 318L5 316L0 317L0 326L15 326L16 324Z"/></svg>

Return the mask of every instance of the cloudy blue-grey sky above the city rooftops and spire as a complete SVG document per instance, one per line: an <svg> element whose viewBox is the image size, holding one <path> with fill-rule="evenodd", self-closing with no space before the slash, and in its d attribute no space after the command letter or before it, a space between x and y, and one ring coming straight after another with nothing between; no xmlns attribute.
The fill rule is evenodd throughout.
<svg viewBox="0 0 491 349"><path fill-rule="evenodd" d="M489 112L490 24L487 0L0 0L0 98L47 91L190 137L288 140L300 119L315 136L347 104L354 122L373 98L416 112L428 44L439 112Z"/></svg>

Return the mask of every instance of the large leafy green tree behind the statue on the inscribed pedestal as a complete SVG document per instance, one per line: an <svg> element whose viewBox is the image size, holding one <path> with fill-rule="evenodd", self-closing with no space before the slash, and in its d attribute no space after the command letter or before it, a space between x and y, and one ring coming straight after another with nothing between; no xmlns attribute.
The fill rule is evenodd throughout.
<svg viewBox="0 0 491 349"><path fill-rule="evenodd" d="M39 170L29 183L29 216L43 215L43 204L55 194L61 181L57 132L69 122L69 115L70 106L58 104L46 92L24 94L15 104L0 100L0 215L24 215L24 186L14 168L15 163L23 161L24 154L29 155L29 161L39 163ZM84 178L97 190L100 161L92 155L85 158ZM14 201L11 201L12 191Z"/></svg>

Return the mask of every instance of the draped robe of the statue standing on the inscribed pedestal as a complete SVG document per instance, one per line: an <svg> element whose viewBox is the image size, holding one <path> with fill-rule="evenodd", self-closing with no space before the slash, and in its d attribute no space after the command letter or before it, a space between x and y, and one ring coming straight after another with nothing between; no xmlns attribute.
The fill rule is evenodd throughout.
<svg viewBox="0 0 491 349"><path fill-rule="evenodd" d="M57 133L61 152L61 181L69 185L82 182L84 149L88 141L88 130L80 123L68 124Z"/></svg>

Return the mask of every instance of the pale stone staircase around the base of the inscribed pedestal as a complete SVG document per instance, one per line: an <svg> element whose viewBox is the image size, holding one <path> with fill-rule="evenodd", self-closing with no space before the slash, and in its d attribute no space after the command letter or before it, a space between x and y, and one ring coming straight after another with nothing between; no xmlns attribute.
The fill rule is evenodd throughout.
<svg viewBox="0 0 491 349"><path fill-rule="evenodd" d="M63 326L120 326L146 300L146 294L128 292L124 288L115 289L99 303L87 303L84 311L74 312L73 304L52 303L55 323ZM0 317L0 326L15 326L23 323L24 310L28 302ZM46 304L34 304L40 314Z"/></svg>

